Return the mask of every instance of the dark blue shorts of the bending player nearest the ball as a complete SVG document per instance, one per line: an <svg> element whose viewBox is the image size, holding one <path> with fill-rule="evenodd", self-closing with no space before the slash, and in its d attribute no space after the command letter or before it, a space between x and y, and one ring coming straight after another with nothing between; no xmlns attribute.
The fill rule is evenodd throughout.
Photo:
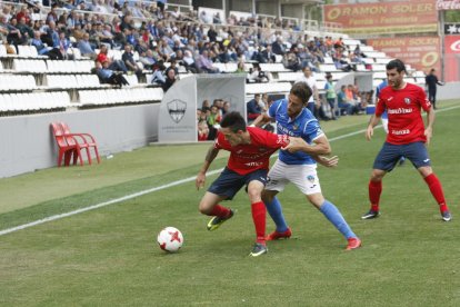
<svg viewBox="0 0 460 307"><path fill-rule="evenodd" d="M267 169L258 169L247 175L239 175L226 167L219 178L209 187L208 191L232 199L244 185L248 186L252 180L258 180L264 186L267 184Z"/></svg>

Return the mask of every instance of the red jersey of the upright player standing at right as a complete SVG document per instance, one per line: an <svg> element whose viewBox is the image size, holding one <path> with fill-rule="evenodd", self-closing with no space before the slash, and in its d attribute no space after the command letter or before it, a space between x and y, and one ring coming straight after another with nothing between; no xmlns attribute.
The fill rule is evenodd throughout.
<svg viewBox="0 0 460 307"><path fill-rule="evenodd" d="M431 103L419 86L407 83L403 89L386 87L381 90L376 115L381 116L384 110L388 112L389 143L427 141L421 108L428 111Z"/></svg>

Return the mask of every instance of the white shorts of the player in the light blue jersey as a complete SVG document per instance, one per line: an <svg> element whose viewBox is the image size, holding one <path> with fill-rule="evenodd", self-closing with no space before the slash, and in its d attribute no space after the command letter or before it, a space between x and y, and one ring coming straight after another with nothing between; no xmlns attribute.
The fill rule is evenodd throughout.
<svg viewBox="0 0 460 307"><path fill-rule="evenodd" d="M271 167L266 190L282 191L289 182L304 195L321 192L317 165L287 165L279 159Z"/></svg>

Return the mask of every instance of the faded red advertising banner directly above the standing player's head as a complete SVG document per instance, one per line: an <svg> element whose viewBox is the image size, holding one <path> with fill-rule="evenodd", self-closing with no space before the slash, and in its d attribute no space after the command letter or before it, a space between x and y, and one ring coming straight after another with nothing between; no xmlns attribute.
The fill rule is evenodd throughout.
<svg viewBox="0 0 460 307"><path fill-rule="evenodd" d="M401 59L417 70L428 72L431 68L441 70L439 37L403 37L368 39L367 44L386 52L391 58Z"/></svg>

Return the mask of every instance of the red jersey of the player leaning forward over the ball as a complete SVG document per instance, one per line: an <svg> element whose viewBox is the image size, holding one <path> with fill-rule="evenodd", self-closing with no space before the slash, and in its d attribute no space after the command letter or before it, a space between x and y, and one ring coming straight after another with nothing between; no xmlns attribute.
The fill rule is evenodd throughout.
<svg viewBox="0 0 460 307"><path fill-rule="evenodd" d="M230 146L219 133L214 148L230 151L227 167L239 175L247 175L258 169L269 169L271 154L289 145L289 136L279 136L257 127L248 127L251 143Z"/></svg>

